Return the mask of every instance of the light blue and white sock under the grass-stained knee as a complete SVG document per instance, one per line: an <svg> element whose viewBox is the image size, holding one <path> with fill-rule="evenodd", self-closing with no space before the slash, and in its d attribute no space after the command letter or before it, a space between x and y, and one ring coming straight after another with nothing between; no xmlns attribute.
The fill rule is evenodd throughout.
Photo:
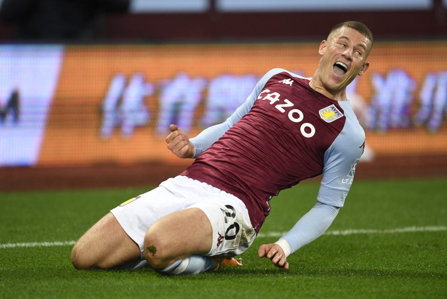
<svg viewBox="0 0 447 299"><path fill-rule="evenodd" d="M216 267L217 264L211 257L191 255L190 257L176 261L167 268L156 271L164 275L188 275L215 270Z"/></svg>

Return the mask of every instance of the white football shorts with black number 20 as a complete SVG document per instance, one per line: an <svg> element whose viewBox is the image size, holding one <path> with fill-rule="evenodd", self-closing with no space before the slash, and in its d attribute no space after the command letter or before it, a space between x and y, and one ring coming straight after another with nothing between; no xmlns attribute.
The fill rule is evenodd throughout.
<svg viewBox="0 0 447 299"><path fill-rule="evenodd" d="M236 196L207 183L177 176L111 210L141 250L148 228L173 212L199 208L210 220L212 246L207 256L233 257L243 253L256 236L245 204Z"/></svg>

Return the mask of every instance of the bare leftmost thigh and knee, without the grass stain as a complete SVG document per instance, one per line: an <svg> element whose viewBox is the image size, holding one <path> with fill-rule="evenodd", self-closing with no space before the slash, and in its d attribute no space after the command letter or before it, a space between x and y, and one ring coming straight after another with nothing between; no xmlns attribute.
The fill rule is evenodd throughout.
<svg viewBox="0 0 447 299"><path fill-rule="evenodd" d="M79 269L110 269L140 259L138 244L110 212L80 237L72 251L72 263Z"/></svg>

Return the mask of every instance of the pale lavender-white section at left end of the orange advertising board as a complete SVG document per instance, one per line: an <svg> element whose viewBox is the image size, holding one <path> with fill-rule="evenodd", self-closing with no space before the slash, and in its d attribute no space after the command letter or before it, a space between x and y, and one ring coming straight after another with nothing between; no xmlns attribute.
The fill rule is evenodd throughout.
<svg viewBox="0 0 447 299"><path fill-rule="evenodd" d="M0 46L0 166L38 161L63 46Z"/></svg>

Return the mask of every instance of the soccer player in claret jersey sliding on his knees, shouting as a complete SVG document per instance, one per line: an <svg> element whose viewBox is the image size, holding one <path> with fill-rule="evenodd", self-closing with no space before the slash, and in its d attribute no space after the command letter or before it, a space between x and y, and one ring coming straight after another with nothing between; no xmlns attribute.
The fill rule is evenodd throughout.
<svg viewBox="0 0 447 299"><path fill-rule="evenodd" d="M74 246L73 265L215 270L253 243L273 196L322 173L315 206L277 242L259 247L259 257L288 269L287 256L325 232L352 184L365 134L345 91L367 70L371 47L365 25L338 24L320 44L312 78L273 69L226 122L192 139L171 125L168 148L194 163L93 225Z"/></svg>

